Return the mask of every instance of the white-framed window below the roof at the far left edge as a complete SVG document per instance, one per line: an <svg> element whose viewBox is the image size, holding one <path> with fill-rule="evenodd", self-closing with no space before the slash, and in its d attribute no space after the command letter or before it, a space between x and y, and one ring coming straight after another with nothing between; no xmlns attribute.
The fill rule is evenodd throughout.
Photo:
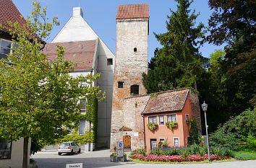
<svg viewBox="0 0 256 168"><path fill-rule="evenodd" d="M1 58L7 59L8 54L14 52L14 50L11 50L12 46L15 48L19 47L19 45L13 43L12 41L0 39L0 60Z"/></svg>

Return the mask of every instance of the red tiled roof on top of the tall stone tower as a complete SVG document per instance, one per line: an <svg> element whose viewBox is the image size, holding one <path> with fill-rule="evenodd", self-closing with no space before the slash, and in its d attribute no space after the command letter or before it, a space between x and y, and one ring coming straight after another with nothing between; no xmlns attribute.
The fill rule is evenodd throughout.
<svg viewBox="0 0 256 168"><path fill-rule="evenodd" d="M120 4L116 19L149 18L149 4Z"/></svg>

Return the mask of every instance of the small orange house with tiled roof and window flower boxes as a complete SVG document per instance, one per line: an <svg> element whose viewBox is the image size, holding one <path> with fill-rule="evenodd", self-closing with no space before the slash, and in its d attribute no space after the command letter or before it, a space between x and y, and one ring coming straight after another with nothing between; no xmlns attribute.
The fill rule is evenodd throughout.
<svg viewBox="0 0 256 168"><path fill-rule="evenodd" d="M158 143L165 141L168 146L185 146L189 136L189 118L196 118L198 130L201 132L199 102L197 94L191 89L172 90L152 95L142 116L145 146L148 152L157 148ZM148 124L153 125L152 123L158 126L150 130ZM174 124L173 128L169 128L168 123Z"/></svg>

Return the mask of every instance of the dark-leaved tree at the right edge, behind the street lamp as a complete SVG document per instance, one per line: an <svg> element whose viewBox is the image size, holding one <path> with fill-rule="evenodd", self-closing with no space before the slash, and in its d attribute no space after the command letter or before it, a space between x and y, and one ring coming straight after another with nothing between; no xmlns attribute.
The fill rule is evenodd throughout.
<svg viewBox="0 0 256 168"><path fill-rule="evenodd" d="M210 43L226 43L218 83L223 112L238 115L256 105L256 1L210 0Z"/></svg>

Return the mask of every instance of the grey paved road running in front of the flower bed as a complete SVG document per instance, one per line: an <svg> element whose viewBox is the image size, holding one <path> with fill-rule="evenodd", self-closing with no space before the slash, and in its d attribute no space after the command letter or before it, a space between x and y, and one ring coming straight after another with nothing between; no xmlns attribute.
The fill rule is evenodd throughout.
<svg viewBox="0 0 256 168"><path fill-rule="evenodd" d="M38 168L66 168L66 164L82 163L83 168L256 168L256 160L236 162L213 162L210 164L137 164L134 162L109 162L109 150L83 152L74 155L61 155L56 152L38 152L33 159Z"/></svg>

